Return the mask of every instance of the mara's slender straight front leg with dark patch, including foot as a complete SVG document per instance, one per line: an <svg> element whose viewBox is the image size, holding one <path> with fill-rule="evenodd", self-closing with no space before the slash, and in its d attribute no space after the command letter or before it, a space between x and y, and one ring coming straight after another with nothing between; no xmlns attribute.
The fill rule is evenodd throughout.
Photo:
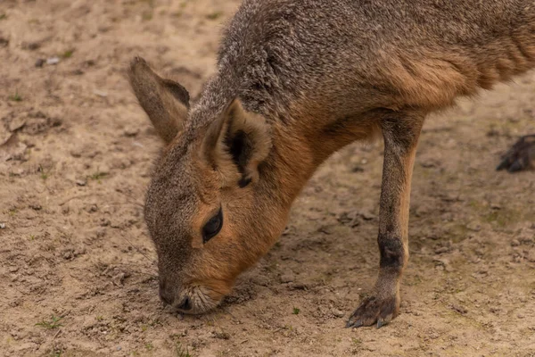
<svg viewBox="0 0 535 357"><path fill-rule="evenodd" d="M382 120L383 185L379 213L379 277L372 295L360 303L348 328L377 328L399 314L399 281L408 260L408 208L416 145L424 115L391 113Z"/></svg>

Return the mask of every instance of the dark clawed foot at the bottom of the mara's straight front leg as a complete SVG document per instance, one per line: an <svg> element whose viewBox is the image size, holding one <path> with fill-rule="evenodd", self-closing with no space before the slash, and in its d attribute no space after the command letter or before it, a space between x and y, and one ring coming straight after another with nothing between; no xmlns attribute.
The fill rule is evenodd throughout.
<svg viewBox="0 0 535 357"><path fill-rule="evenodd" d="M395 296L386 300L379 300L375 296L367 297L353 312L346 328L360 328L372 326L382 328L399 315L399 303Z"/></svg>

